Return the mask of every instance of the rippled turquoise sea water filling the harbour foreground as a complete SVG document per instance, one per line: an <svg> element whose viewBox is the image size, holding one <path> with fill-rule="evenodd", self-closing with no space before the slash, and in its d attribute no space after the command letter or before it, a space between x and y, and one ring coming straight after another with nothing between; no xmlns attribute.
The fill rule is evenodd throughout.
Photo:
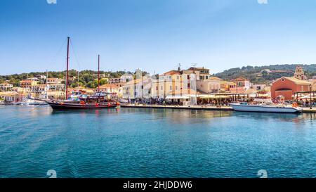
<svg viewBox="0 0 316 192"><path fill-rule="evenodd" d="M0 105L0 177L316 176L316 115Z"/></svg>

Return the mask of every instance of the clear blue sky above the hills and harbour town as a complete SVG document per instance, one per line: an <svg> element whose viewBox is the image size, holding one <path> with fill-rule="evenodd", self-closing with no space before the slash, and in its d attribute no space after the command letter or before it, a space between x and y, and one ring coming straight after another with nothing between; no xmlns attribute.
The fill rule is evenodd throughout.
<svg viewBox="0 0 316 192"><path fill-rule="evenodd" d="M316 63L315 13L315 0L2 0L0 75L64 70L67 36L78 70L98 53L103 70L151 73Z"/></svg>

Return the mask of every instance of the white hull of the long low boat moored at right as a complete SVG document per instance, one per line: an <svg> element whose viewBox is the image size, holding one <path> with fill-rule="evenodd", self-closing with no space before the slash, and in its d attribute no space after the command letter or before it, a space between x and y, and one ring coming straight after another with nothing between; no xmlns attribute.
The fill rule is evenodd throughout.
<svg viewBox="0 0 316 192"><path fill-rule="evenodd" d="M265 113L301 113L302 108L278 105L243 105L230 104L234 110L245 112L265 112Z"/></svg>

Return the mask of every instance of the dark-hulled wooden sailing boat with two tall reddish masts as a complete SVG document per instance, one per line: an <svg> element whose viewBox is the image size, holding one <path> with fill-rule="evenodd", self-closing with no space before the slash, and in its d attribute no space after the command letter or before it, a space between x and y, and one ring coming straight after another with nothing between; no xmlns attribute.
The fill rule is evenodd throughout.
<svg viewBox="0 0 316 192"><path fill-rule="evenodd" d="M69 67L69 45L70 37L67 37L67 69L66 69L66 90L65 100L47 100L46 103L53 110L79 110L79 109L98 109L116 108L119 102L112 98L111 94L100 92L100 55L98 55L98 91L92 96L85 96L76 100L68 99L68 67ZM71 97L70 97L71 98Z"/></svg>

